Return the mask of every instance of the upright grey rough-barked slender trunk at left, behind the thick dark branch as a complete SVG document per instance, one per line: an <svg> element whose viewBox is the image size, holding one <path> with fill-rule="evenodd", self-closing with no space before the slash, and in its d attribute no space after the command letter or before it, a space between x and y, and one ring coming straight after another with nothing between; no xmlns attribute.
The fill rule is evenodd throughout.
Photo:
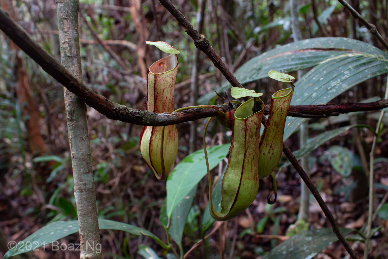
<svg viewBox="0 0 388 259"><path fill-rule="evenodd" d="M78 0L57 2L62 64L78 80L81 80L78 9ZM100 245L100 235L86 120L86 105L66 88L64 88L64 96L74 177L74 196L80 228L80 258L99 259L101 254L95 249L97 244Z"/></svg>

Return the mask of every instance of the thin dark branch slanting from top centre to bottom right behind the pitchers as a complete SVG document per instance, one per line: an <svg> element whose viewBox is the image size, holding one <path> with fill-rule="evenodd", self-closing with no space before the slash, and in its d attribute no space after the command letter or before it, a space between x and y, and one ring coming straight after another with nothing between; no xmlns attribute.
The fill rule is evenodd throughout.
<svg viewBox="0 0 388 259"><path fill-rule="evenodd" d="M211 61L213 61L214 65L221 71L221 73L227 78L229 83L232 86L235 87L242 87L239 82L237 82L236 78L232 75L232 73L229 71L227 66L222 62L220 57L218 56L217 53L215 53L214 49L211 47L209 41L204 37L204 35L201 35L198 33L198 31L187 21L187 19L182 15L181 12L170 2L170 0L159 0L161 5L163 5L171 14L172 16L177 19L178 23L185 29L186 33L193 38L194 44L199 50L202 50L206 56L210 58ZM262 120L263 125L267 123L267 118L263 116ZM333 215L331 214L330 210L327 208L326 203L320 196L317 188L315 188L314 184L310 181L308 178L306 172L303 170L303 168L300 166L298 160L296 160L295 156L291 152L291 150L288 148L286 143L283 143L283 152L287 156L288 160L291 162L291 164L295 167L295 169L298 171L300 174L301 178L303 181L305 181L306 185L310 189L310 191L313 193L314 197L317 199L320 207L324 211L327 219L329 219L333 231L338 237L338 239L341 241L343 246L345 247L346 251L352 256L353 259L358 258L353 249L350 247L349 243L346 242L345 237L341 233L340 229L338 228L338 224L335 221Z"/></svg>

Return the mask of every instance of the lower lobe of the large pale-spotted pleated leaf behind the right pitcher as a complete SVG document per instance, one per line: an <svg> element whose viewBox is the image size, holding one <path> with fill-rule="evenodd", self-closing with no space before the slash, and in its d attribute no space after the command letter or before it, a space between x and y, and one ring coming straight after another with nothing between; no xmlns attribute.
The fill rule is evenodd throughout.
<svg viewBox="0 0 388 259"><path fill-rule="evenodd" d="M359 43L364 45L364 43ZM329 59L308 71L298 82L291 105L326 104L354 85L388 72L388 55L369 46L376 54L348 53ZM306 118L288 117L283 139L291 134Z"/></svg>

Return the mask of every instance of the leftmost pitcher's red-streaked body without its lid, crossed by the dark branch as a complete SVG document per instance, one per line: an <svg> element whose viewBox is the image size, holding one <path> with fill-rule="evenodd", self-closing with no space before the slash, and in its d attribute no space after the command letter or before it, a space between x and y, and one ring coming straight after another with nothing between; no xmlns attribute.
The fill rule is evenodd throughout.
<svg viewBox="0 0 388 259"><path fill-rule="evenodd" d="M174 111L174 88L178 67L178 58L174 54L159 59L150 66L147 81L147 111L156 113ZM163 154L161 154L162 139ZM165 180L178 153L177 127L169 125L163 129L144 126L140 134L140 153L156 178L160 181Z"/></svg>

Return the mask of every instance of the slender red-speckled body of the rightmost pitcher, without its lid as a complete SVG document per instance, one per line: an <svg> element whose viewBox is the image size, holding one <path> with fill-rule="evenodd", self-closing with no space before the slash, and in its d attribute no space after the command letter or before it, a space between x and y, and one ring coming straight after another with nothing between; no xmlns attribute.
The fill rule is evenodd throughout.
<svg viewBox="0 0 388 259"><path fill-rule="evenodd" d="M272 95L267 124L260 138L259 178L270 175L279 163L283 150L284 124L293 92L292 85Z"/></svg>

